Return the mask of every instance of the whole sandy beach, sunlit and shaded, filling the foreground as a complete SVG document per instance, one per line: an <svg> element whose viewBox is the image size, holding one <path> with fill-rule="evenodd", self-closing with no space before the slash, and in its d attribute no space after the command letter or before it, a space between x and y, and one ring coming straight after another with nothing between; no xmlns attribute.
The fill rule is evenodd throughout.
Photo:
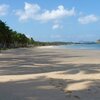
<svg viewBox="0 0 100 100"><path fill-rule="evenodd" d="M100 100L100 51L52 46L2 51L0 100Z"/></svg>

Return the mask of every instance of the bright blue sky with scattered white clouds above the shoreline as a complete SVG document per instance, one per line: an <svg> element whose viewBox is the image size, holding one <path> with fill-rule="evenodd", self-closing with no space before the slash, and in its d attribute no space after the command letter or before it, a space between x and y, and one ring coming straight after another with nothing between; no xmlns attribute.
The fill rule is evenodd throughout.
<svg viewBox="0 0 100 100"><path fill-rule="evenodd" d="M0 0L0 19L36 41L100 39L100 0Z"/></svg>

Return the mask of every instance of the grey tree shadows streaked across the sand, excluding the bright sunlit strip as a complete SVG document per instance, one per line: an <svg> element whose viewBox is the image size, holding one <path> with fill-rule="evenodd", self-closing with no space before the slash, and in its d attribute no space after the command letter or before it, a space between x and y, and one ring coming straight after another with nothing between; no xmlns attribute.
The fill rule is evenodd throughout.
<svg viewBox="0 0 100 100"><path fill-rule="evenodd" d="M19 51L19 50L18 50ZM27 75L62 71L64 75L100 73L100 64L59 64L56 58L78 58L59 52L13 50L11 55L0 58L0 76ZM18 53L16 53L18 52ZM9 54L10 52L6 52ZM22 55L23 53L23 55ZM8 63L7 63L8 62ZM42 65L42 66L41 66ZM87 89L65 91L70 84L87 82ZM37 79L0 83L0 100L100 100L100 80ZM92 91L92 92L90 92ZM98 97L99 95L99 97Z"/></svg>

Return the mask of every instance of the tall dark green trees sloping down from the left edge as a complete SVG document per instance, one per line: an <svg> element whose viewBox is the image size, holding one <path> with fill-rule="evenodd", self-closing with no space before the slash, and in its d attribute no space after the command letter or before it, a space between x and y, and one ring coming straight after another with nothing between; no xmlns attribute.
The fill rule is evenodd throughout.
<svg viewBox="0 0 100 100"><path fill-rule="evenodd" d="M0 20L0 48L26 47L34 42L33 38L28 38L25 34L14 31Z"/></svg>

